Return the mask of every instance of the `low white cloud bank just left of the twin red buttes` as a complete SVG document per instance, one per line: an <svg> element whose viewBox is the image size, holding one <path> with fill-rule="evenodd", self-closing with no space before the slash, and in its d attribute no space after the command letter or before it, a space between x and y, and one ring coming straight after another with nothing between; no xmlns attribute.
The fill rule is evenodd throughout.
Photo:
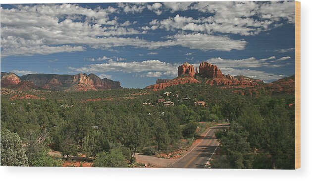
<svg viewBox="0 0 312 181"><path fill-rule="evenodd" d="M145 60L145 61L113 61L108 60L107 63L90 64L84 67L69 67L69 69L77 72L110 72L121 71L126 73L139 72L161 72L164 75L176 76L177 67L179 64L167 63L160 60ZM152 75L152 73L150 73ZM157 73L159 75L159 73ZM151 76L150 75L150 76Z"/></svg>

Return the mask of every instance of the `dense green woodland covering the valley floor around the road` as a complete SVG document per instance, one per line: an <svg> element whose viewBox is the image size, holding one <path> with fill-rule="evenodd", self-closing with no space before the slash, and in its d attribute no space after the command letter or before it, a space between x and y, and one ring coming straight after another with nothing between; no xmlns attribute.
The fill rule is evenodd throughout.
<svg viewBox="0 0 312 181"><path fill-rule="evenodd" d="M164 92L171 94L167 97ZM127 167L135 162L137 152L152 155L178 149L181 139L196 136L199 121L229 119L231 128L218 133L224 164L230 168L294 167L294 109L286 106L294 102L294 96L271 97L264 92L258 97L241 96L206 84L177 85L158 92L29 94L45 100L10 100L12 95L1 95L1 130L21 138L29 166L59 166L47 154L50 146L65 159L83 153L95 158L94 166ZM174 106L156 104L159 98L170 99ZM207 107L195 107L194 101L205 101ZM241 146L235 146L236 138Z"/></svg>

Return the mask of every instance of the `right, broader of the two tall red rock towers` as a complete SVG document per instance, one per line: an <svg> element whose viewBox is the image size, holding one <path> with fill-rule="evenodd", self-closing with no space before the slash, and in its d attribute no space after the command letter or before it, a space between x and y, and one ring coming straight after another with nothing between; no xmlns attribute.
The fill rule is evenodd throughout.
<svg viewBox="0 0 312 181"><path fill-rule="evenodd" d="M208 62L202 62L199 66L199 74L206 78L221 78L223 77L221 70Z"/></svg>

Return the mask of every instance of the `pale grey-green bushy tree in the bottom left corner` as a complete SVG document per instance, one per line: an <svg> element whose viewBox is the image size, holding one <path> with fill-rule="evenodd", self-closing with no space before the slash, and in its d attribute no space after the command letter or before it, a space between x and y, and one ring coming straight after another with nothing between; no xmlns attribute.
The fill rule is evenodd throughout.
<svg viewBox="0 0 312 181"><path fill-rule="evenodd" d="M1 129L1 166L28 166L28 158L19 136Z"/></svg>

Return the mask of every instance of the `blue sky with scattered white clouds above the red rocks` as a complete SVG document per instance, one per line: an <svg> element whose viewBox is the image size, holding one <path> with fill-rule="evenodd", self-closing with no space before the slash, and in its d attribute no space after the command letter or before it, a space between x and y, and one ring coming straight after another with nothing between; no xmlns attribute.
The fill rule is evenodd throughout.
<svg viewBox="0 0 312 181"><path fill-rule="evenodd" d="M95 73L143 88L185 61L295 74L294 1L1 4L1 71Z"/></svg>

